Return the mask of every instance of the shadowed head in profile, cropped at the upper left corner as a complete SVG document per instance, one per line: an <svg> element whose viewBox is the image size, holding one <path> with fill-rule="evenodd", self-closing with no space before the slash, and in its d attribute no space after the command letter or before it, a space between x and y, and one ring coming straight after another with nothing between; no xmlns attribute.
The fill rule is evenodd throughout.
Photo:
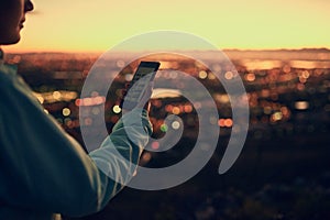
<svg viewBox="0 0 330 220"><path fill-rule="evenodd" d="M31 0L0 0L0 45L20 41L25 13L32 10Z"/></svg>

